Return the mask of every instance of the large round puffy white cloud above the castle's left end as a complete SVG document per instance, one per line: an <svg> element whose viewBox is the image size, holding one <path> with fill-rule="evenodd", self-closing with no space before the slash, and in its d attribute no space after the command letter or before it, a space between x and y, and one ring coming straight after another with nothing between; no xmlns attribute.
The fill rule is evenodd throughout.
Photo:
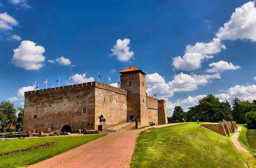
<svg viewBox="0 0 256 168"><path fill-rule="evenodd" d="M20 46L13 50L12 61L16 66L25 70L39 70L44 66L44 47L36 46L35 42L22 41Z"/></svg>

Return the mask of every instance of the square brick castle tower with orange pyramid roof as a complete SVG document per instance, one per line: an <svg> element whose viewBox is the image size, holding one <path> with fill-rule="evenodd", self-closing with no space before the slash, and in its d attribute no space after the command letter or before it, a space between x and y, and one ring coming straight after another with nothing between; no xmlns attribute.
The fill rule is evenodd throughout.
<svg viewBox="0 0 256 168"><path fill-rule="evenodd" d="M146 75L135 66L121 70L121 88L127 90L127 121L141 120L141 113L147 111Z"/></svg>

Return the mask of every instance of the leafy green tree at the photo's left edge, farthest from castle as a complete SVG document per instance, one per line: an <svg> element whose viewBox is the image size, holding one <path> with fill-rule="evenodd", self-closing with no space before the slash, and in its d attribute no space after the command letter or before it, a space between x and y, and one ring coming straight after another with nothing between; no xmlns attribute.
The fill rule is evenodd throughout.
<svg viewBox="0 0 256 168"><path fill-rule="evenodd" d="M0 126L1 132L4 131L5 127L9 127L15 124L16 118L16 109L10 101L2 101L0 103Z"/></svg>

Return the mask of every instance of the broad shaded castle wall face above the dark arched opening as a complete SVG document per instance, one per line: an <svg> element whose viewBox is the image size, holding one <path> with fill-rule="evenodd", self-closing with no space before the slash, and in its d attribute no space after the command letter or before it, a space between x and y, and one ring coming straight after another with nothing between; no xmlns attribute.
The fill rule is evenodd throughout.
<svg viewBox="0 0 256 168"><path fill-rule="evenodd" d="M55 131L64 125L72 131L87 125L94 129L94 92L93 83L25 92L24 130Z"/></svg>

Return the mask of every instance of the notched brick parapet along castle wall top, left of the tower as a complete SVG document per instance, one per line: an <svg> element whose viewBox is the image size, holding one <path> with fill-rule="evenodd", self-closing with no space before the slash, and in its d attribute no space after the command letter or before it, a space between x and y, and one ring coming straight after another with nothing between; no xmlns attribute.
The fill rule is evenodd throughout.
<svg viewBox="0 0 256 168"><path fill-rule="evenodd" d="M127 95L127 91L125 89L116 88L116 87L110 86L108 84L103 84L103 83L94 81L94 82L66 85L66 86L60 86L60 87L54 87L54 88L48 88L48 89L31 90L31 91L25 92L25 96L29 96L30 94L38 94L38 93L57 93L59 91L86 89L89 87L106 89L109 91Z"/></svg>

